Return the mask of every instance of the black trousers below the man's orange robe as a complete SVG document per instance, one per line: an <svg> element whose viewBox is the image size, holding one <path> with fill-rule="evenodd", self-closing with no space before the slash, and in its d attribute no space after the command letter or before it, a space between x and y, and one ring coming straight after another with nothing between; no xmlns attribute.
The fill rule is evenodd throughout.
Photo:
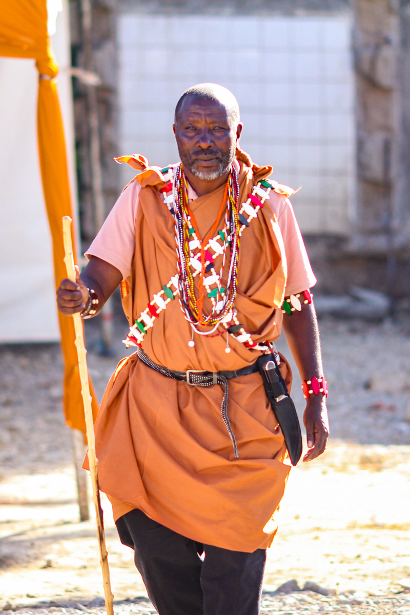
<svg viewBox="0 0 410 615"><path fill-rule="evenodd" d="M243 553L200 544L138 509L116 525L122 544L135 551L135 565L160 615L258 615L264 549Z"/></svg>

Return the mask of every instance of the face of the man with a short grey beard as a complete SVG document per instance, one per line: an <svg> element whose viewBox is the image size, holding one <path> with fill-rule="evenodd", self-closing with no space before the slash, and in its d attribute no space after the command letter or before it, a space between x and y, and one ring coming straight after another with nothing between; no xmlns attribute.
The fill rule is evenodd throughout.
<svg viewBox="0 0 410 615"><path fill-rule="evenodd" d="M215 180L234 160L242 124L229 119L221 103L191 95L173 130L184 169L200 180Z"/></svg>

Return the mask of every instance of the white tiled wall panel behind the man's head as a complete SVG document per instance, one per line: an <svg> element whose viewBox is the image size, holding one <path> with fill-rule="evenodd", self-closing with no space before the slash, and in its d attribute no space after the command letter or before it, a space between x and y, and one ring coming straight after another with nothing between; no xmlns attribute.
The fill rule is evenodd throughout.
<svg viewBox="0 0 410 615"><path fill-rule="evenodd" d="M178 160L171 124L190 85L217 82L239 100L242 147L293 199L304 232L349 229L355 178L351 20L123 14L120 147L151 164ZM123 165L124 182L132 170Z"/></svg>

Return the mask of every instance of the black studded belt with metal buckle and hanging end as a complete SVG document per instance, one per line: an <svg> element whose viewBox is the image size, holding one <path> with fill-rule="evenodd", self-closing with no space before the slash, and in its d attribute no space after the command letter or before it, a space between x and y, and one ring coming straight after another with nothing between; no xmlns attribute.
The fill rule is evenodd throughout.
<svg viewBox="0 0 410 615"><path fill-rule="evenodd" d="M234 432L232 431L231 423L229 423L229 418L227 415L227 405L228 405L228 380L231 378L239 378L240 376L247 376L248 374L253 374L256 371L259 371L258 363L252 363L252 365L248 365L248 367L243 367L242 370L235 371L205 371L205 370L187 370L187 371L173 371L168 370L167 367L162 367L162 365L157 365L154 363L147 354L143 351L142 348L138 348L136 351L138 358L141 359L145 365L151 367L153 370L158 371L163 376L168 376L168 378L173 378L174 380L180 380L191 384L192 386L213 386L214 384L220 384L224 387L224 397L221 404L221 416L223 418L225 427L229 434L229 437L232 440L232 446L234 447L235 457L239 457L238 448L236 445L236 440L234 436ZM269 357L274 357L274 355L269 355Z"/></svg>

